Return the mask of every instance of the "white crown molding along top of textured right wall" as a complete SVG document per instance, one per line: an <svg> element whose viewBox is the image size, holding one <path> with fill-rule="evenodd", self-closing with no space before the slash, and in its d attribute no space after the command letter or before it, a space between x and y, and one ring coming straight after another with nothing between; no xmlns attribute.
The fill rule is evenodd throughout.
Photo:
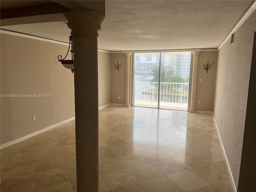
<svg viewBox="0 0 256 192"><path fill-rule="evenodd" d="M234 26L234 28L230 31L228 36L224 39L224 41L218 47L218 50L222 48L222 46L231 38L232 34L238 30L238 28L248 19L248 17L256 10L256 1L250 6L250 8L245 12L242 18L238 21L238 23Z"/></svg>

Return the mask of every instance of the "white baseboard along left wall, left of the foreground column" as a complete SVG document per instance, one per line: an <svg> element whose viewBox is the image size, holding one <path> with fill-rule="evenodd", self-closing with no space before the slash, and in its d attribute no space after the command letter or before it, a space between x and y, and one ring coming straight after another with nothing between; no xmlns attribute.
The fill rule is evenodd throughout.
<svg viewBox="0 0 256 192"><path fill-rule="evenodd" d="M30 138L30 137L36 136L36 135L38 135L38 134L40 134L40 133L42 133L42 132L48 131L48 130L50 130L50 129L52 129L52 128L55 128L55 127L58 127L58 126L60 126L60 125L62 125L62 124L65 124L65 123L67 123L67 122L70 122L70 121L72 121L72 120L74 120L74 119L75 119L75 117L69 118L69 119L64 120L64 121L62 121L62 122L58 122L58 123L56 123L56 124L53 124L53 125L48 126L48 127L46 127L46 128L43 128L43 129L38 130L38 131L36 131L36 132L33 132L33 133L30 133L30 134L25 135L25 136L23 136L23 137L20 137L20 138L18 138L18 139L12 140L12 141L7 142L7 143L4 143L4 144L0 145L0 149L6 148L6 147L11 146L11 145L14 145L14 144L16 144L16 143L18 143L18 142L24 141L24 140L26 140L26 139L28 139L28 138Z"/></svg>

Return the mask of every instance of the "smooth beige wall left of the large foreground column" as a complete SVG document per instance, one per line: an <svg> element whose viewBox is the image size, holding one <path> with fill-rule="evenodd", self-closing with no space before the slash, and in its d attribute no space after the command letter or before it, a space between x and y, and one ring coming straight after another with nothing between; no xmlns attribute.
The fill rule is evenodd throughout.
<svg viewBox="0 0 256 192"><path fill-rule="evenodd" d="M74 75L58 62L67 46L1 34L1 144L74 117ZM32 121L36 116L36 121Z"/></svg>

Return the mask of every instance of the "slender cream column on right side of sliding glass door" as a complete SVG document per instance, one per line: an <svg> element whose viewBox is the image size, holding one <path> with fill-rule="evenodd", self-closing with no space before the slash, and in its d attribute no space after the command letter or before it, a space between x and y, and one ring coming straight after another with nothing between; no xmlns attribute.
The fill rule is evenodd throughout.
<svg viewBox="0 0 256 192"><path fill-rule="evenodd" d="M191 85L191 100L190 100L190 113L196 112L196 83L198 71L198 56L200 51L193 51L193 72L192 72L192 85Z"/></svg>

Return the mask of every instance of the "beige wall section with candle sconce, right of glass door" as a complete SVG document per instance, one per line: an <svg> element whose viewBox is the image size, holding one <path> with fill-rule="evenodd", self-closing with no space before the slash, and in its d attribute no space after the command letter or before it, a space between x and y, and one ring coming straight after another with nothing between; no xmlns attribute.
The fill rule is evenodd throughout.
<svg viewBox="0 0 256 192"><path fill-rule="evenodd" d="M206 64L210 64L211 58L212 66L207 73L204 69L204 59L206 59ZM217 59L218 51L201 51L199 54L196 86L196 110L213 111ZM202 82L200 82L200 79L202 79ZM198 100L200 100L200 104L198 104Z"/></svg>

